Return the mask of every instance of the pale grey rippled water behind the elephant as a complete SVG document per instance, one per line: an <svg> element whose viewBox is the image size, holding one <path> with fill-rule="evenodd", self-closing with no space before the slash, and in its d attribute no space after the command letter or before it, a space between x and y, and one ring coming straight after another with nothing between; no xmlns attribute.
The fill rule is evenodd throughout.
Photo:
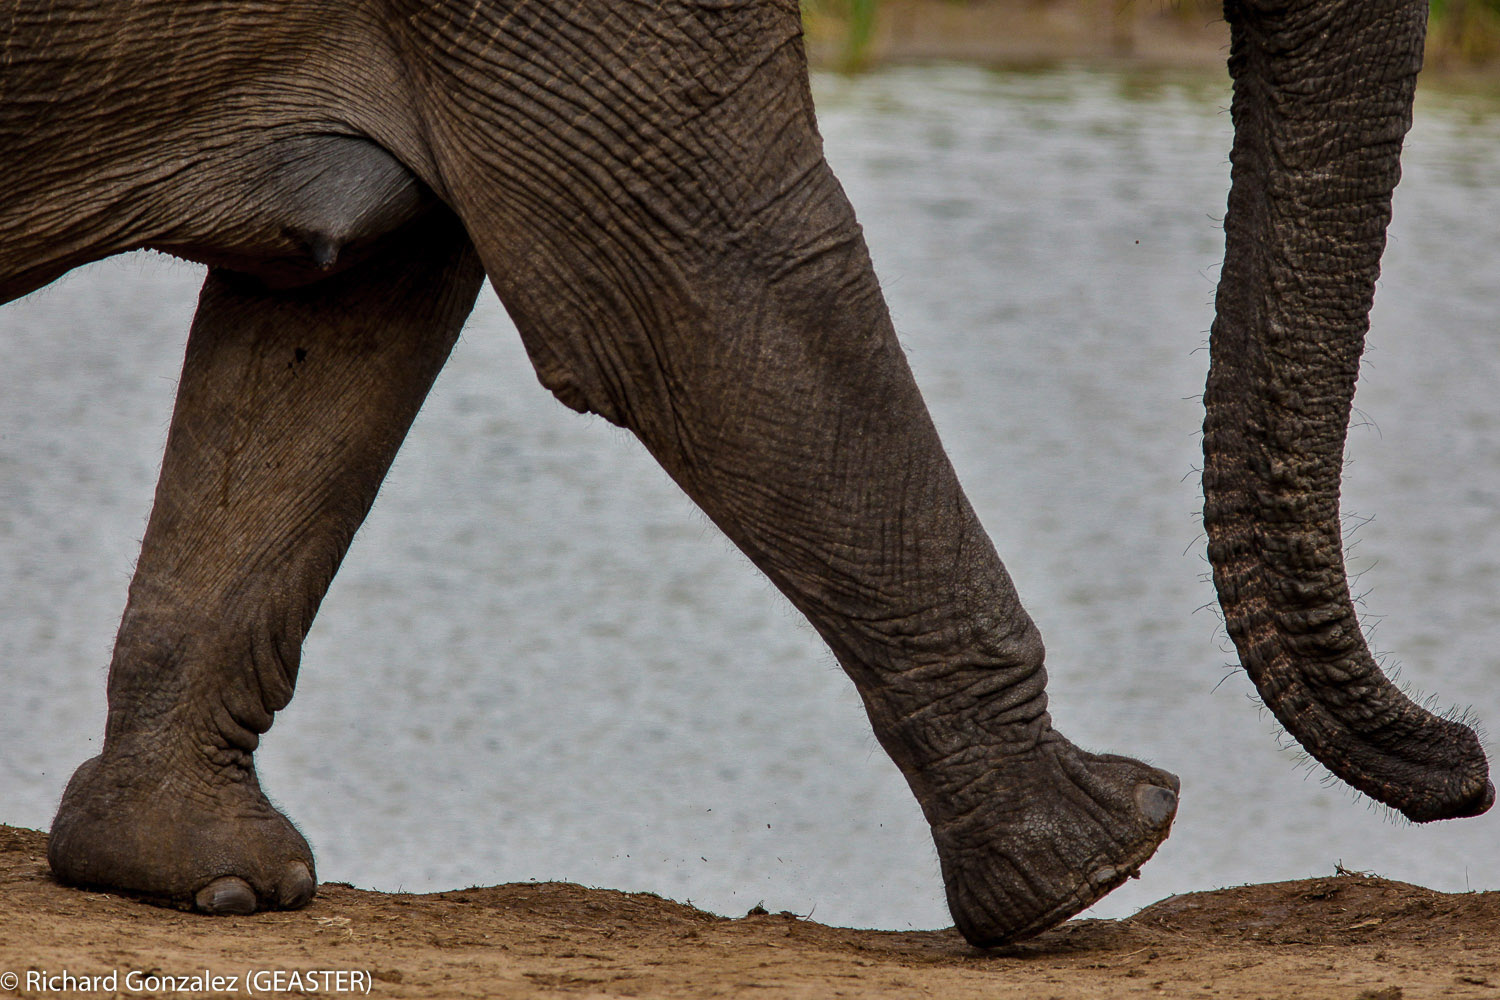
<svg viewBox="0 0 1500 1000"><path fill-rule="evenodd" d="M1203 583L1197 396L1221 255L1218 79L822 78L828 154L918 379L1048 645L1077 742L1182 775L1096 907L1348 868L1500 888L1500 819L1412 828L1276 750ZM1404 679L1500 720L1500 114L1424 99L1346 508ZM0 310L0 820L46 826L104 673L196 268L141 256ZM1378 430L1376 430L1378 427ZM627 435L555 403L484 294L261 751L324 879L525 879L723 913L948 922L852 687Z"/></svg>

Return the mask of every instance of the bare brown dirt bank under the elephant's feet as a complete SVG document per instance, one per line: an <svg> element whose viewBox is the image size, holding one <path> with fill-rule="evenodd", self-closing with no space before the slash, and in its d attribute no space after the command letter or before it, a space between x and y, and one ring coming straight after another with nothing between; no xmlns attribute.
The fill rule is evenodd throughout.
<svg viewBox="0 0 1500 1000"><path fill-rule="evenodd" d="M0 997L1500 997L1500 892L1362 874L1172 897L981 952L951 930L728 919L562 883L326 883L296 913L204 918L66 889L45 850L45 834L0 826Z"/></svg>

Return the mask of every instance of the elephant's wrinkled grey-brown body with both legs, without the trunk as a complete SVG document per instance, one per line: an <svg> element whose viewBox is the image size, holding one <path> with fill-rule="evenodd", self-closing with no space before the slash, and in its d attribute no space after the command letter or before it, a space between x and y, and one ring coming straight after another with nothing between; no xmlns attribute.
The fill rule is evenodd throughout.
<svg viewBox="0 0 1500 1000"><path fill-rule="evenodd" d="M310 898L252 754L484 274L542 382L636 433L834 649L970 942L1167 835L1176 778L1052 727L824 162L795 0L0 0L0 301L135 247L210 268L60 879Z"/></svg>

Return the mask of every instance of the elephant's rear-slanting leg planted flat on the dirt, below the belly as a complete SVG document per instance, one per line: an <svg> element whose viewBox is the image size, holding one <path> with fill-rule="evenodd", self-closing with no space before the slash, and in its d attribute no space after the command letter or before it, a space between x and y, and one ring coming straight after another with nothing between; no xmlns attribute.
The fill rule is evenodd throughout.
<svg viewBox="0 0 1500 1000"><path fill-rule="evenodd" d="M104 750L52 823L63 882L208 913L312 897L312 852L266 801L252 754L482 282L446 213L393 246L292 291L210 271L110 667Z"/></svg>

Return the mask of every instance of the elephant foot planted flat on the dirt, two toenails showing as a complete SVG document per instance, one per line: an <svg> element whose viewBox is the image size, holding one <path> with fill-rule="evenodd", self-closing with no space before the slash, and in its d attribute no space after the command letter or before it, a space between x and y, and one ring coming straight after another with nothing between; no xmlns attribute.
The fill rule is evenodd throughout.
<svg viewBox="0 0 1500 1000"><path fill-rule="evenodd" d="M242 760L190 778L159 754L84 762L52 820L52 873L201 913L306 906L312 850L266 801L249 754L231 756Z"/></svg>

